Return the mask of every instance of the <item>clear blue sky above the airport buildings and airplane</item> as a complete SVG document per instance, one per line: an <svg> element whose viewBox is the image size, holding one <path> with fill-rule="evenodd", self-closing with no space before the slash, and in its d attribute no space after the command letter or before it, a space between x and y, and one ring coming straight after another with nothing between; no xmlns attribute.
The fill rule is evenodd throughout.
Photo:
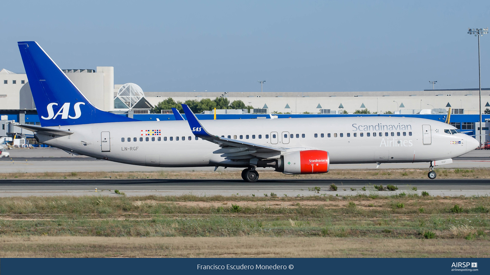
<svg viewBox="0 0 490 275"><path fill-rule="evenodd" d="M17 41L61 69L113 66L145 92L478 88L490 1L2 1L0 69ZM481 37L490 87L490 34Z"/></svg>

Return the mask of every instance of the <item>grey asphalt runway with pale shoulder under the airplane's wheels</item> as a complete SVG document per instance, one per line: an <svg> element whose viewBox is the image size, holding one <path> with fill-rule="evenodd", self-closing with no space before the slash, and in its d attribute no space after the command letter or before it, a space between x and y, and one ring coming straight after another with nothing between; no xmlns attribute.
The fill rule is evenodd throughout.
<svg viewBox="0 0 490 275"><path fill-rule="evenodd" d="M330 184L338 186L337 191L329 191ZM397 191L377 191L373 185L396 185ZM314 187L320 188L317 193ZM366 187L366 191L361 190ZM416 186L417 191L412 190ZM97 192L96 192L97 188ZM351 190L355 188L356 190ZM97 195L120 196L118 189L127 196L264 196L275 193L277 196L323 196L379 194L394 195L427 191L431 196L489 196L489 180L261 180L245 183L241 180L0 180L0 197L12 196L56 196L56 195ZM343 190L345 189L345 190Z"/></svg>

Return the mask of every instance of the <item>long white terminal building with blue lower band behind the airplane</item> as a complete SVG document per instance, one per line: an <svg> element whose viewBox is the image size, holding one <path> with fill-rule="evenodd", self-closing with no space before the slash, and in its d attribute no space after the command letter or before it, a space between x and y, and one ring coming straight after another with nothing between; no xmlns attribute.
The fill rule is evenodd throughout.
<svg viewBox="0 0 490 275"><path fill-rule="evenodd" d="M279 117L367 115L358 114L362 112L442 120L451 108L451 124L469 131L468 134L474 135L475 130L479 130L478 89L404 92L143 92L134 83L115 84L114 67L63 69L63 72L98 109L139 120L174 119L172 114L151 114L153 106L169 97L181 102L227 97L230 102L241 100L245 105L253 106L257 114L244 114L246 109L245 112L218 112L218 119L260 118L264 114L277 114ZM481 98L482 113L487 108L490 113L490 89L482 89ZM25 73L0 70L0 115L2 120L40 124ZM202 119L213 119L213 114L201 116ZM490 115L483 115L482 130L485 134L490 133L490 123L485 122L487 119L490 119ZM10 135L28 136L29 133L14 133L20 131L20 128L15 128ZM2 135L4 133L0 132L0 137Z"/></svg>

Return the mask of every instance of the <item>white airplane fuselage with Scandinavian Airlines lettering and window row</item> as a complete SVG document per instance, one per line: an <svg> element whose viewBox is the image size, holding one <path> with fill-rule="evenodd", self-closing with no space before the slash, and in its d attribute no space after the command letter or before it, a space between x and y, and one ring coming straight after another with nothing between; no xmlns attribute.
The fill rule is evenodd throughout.
<svg viewBox="0 0 490 275"><path fill-rule="evenodd" d="M202 120L201 123L210 134L220 137L230 136L288 151L327 151L330 163L429 162L455 158L478 146L476 139L466 134L445 133L444 130L456 130L451 125L411 117L230 119ZM185 120L60 128L74 133L56 138L39 134L36 137L40 142L75 154L136 165L248 166L241 162L233 164L220 154L213 154L220 147L196 139Z"/></svg>

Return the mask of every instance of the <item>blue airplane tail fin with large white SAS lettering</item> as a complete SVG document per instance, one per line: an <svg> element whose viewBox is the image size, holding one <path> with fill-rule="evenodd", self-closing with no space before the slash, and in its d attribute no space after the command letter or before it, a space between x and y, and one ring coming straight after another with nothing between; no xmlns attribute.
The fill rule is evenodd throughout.
<svg viewBox="0 0 490 275"><path fill-rule="evenodd" d="M36 42L18 45L41 126L137 121L97 109Z"/></svg>

